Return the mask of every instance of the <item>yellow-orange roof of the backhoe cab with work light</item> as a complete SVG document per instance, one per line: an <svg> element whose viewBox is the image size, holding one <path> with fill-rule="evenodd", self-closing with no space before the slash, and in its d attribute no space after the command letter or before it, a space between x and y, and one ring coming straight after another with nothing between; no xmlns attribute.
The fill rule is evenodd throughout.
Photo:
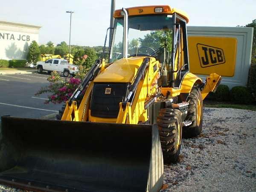
<svg viewBox="0 0 256 192"><path fill-rule="evenodd" d="M155 8L163 8L163 12L155 12ZM189 22L189 17L186 14L186 12L183 12L179 9L176 8L171 8L168 5L157 5L157 6L141 6L141 7L130 7L130 8L126 8L128 15L129 16L133 16L133 15L150 15L150 14L173 14L173 13L177 13L178 15L180 15L181 17L183 17L186 22ZM121 11L122 9L118 9L114 12L114 17L123 17L121 15Z"/></svg>

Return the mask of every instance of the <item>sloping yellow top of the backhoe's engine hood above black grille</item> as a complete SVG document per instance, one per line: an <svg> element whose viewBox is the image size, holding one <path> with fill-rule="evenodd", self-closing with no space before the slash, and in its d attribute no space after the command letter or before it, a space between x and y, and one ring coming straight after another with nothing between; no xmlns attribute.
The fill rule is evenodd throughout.
<svg viewBox="0 0 256 192"><path fill-rule="evenodd" d="M144 58L145 57L131 57L119 59L100 73L94 79L94 82L132 82Z"/></svg>

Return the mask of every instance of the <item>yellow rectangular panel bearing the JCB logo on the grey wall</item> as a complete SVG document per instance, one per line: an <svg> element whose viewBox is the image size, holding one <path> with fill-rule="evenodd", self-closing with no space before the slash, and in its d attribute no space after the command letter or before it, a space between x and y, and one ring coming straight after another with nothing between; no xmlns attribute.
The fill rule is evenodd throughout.
<svg viewBox="0 0 256 192"><path fill-rule="evenodd" d="M232 77L236 67L236 38L188 37L190 72L209 75L217 73Z"/></svg>

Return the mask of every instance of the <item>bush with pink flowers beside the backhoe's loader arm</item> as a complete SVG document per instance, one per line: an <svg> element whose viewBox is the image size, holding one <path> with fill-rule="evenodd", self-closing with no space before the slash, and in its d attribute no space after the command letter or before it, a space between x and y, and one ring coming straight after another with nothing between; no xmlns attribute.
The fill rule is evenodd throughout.
<svg viewBox="0 0 256 192"><path fill-rule="evenodd" d="M61 79L61 76L57 72L52 72L47 80L50 84L47 87L42 87L41 90L35 93L35 95L50 93L48 100L45 102L46 104L50 102L56 104L68 101L81 82L77 78ZM81 94L80 100L83 95L84 92Z"/></svg>

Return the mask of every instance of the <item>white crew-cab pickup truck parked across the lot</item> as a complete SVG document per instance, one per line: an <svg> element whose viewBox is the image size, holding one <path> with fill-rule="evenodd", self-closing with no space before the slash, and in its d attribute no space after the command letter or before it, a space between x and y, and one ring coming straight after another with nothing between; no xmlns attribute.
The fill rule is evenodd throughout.
<svg viewBox="0 0 256 192"><path fill-rule="evenodd" d="M48 59L47 61L38 61L37 63L38 73L47 71L51 73L52 71L57 71L63 73L64 77L68 77L69 74L75 76L78 72L78 66L70 65L67 60L64 59Z"/></svg>

